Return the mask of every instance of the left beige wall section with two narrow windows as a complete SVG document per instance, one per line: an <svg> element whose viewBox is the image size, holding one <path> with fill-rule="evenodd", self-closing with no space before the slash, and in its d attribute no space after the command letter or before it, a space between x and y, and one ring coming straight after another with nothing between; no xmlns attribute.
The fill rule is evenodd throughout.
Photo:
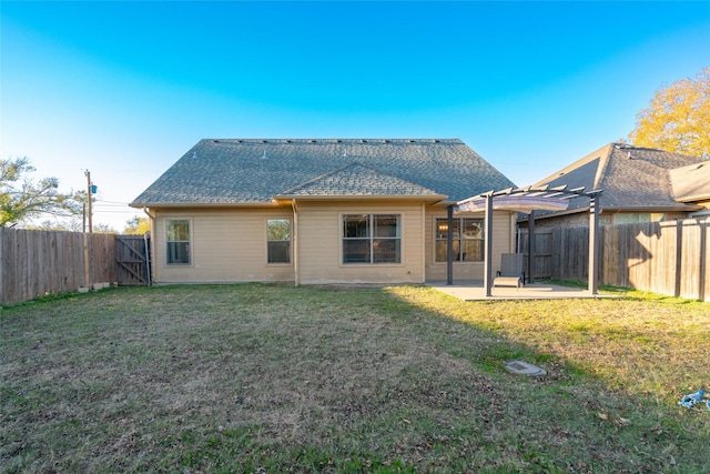
<svg viewBox="0 0 710 474"><path fill-rule="evenodd" d="M153 278L158 283L293 281L293 263L266 261L266 220L291 208L155 211ZM165 221L189 219L191 264L166 263ZM293 258L292 258L293 262Z"/></svg>

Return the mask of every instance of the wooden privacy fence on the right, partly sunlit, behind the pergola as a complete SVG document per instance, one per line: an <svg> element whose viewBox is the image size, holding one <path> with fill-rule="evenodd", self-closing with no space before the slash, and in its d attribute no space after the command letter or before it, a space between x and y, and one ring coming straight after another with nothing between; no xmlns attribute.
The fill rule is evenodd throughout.
<svg viewBox="0 0 710 474"><path fill-rule="evenodd" d="M520 249L528 259L527 229ZM604 225L599 234L599 283L710 301L710 222ZM588 228L538 228L535 278L587 280Z"/></svg>

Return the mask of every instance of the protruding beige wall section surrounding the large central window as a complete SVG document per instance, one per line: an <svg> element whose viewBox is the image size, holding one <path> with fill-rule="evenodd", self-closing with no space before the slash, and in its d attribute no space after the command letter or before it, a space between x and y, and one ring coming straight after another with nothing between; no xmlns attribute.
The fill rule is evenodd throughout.
<svg viewBox="0 0 710 474"><path fill-rule="evenodd" d="M300 202L298 281L323 283L423 283L422 204ZM399 214L400 263L343 264L344 214Z"/></svg>

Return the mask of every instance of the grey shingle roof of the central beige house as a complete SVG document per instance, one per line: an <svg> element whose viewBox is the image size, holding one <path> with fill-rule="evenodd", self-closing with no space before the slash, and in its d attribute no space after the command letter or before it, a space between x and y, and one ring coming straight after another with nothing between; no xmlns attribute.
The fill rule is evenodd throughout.
<svg viewBox="0 0 710 474"><path fill-rule="evenodd" d="M456 202L511 185L455 139L205 139L131 205L267 203L275 196L316 195L423 196Z"/></svg>

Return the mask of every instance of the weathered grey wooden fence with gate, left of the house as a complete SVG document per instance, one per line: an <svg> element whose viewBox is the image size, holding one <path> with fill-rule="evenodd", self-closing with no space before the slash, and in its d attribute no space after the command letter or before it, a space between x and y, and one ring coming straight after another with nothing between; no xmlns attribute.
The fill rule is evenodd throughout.
<svg viewBox="0 0 710 474"><path fill-rule="evenodd" d="M87 285L81 232L0 226L0 303L13 304ZM89 234L90 282L115 281L115 235Z"/></svg>

